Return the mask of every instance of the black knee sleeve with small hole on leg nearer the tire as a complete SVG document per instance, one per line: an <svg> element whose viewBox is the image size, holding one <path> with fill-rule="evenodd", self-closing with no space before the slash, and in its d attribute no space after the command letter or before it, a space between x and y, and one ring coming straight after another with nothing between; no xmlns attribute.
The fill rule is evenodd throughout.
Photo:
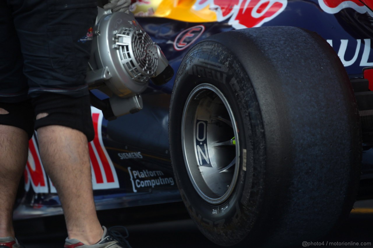
<svg viewBox="0 0 373 248"><path fill-rule="evenodd" d="M79 130L87 136L88 141L94 138L91 115L90 96L71 97L56 93L44 93L32 98L35 119L38 114L47 113L46 117L35 120L35 130L49 125L62 125Z"/></svg>

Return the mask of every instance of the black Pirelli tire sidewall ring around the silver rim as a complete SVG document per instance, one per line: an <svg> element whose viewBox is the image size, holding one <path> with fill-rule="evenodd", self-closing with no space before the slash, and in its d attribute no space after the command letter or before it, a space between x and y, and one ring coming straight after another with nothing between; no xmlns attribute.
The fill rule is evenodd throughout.
<svg viewBox="0 0 373 248"><path fill-rule="evenodd" d="M195 191L182 156L180 115L189 94L202 83L211 84L223 93L238 128L236 140L240 146L240 159L237 183L228 200L217 205L207 203ZM185 56L180 66L173 101L184 103L171 104L170 145L176 182L186 208L208 238L222 245L236 244L252 228L263 190L264 159L257 159L256 156L264 156L264 134L260 131L263 130L260 111L251 82L228 49L211 41L201 42ZM179 130L175 127L179 127ZM244 157L247 158L246 162ZM253 176L254 171L256 177ZM253 188L261 190L253 191ZM216 214L213 214L214 211ZM237 232L237 229L243 231Z"/></svg>

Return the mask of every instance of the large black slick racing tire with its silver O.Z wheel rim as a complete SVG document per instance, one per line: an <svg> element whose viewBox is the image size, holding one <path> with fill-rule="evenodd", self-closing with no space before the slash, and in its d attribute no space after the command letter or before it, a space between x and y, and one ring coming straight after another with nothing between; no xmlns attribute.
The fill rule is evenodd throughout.
<svg viewBox="0 0 373 248"><path fill-rule="evenodd" d="M210 36L184 57L170 105L176 182L211 241L316 242L350 213L358 109L344 66L316 33L276 26Z"/></svg>

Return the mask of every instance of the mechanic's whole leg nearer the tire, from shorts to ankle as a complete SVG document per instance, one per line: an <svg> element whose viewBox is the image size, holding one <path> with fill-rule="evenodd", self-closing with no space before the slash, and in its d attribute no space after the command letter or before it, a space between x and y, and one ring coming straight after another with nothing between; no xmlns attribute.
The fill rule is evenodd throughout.
<svg viewBox="0 0 373 248"><path fill-rule="evenodd" d="M84 79L97 0L7 2L14 10L23 74L28 79L35 114L48 114L37 116L35 121L44 168L60 196L69 238L92 244L100 240L103 230L93 201L87 133L76 126L91 126L93 131ZM88 100L75 103L86 96ZM85 114L89 118L82 118Z"/></svg>

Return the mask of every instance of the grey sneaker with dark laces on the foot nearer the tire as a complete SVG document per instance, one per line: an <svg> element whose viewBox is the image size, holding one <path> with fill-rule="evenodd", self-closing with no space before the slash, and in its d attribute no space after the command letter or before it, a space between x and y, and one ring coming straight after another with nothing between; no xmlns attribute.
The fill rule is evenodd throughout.
<svg viewBox="0 0 373 248"><path fill-rule="evenodd" d="M123 226L113 226L108 230L106 227L104 229L104 234L101 237L101 240L94 245L85 245L80 242L78 239L68 239L65 240L64 248L131 248L125 238L128 237L128 231ZM123 236L117 230L123 230L126 233L126 236ZM0 246L1 248L1 246Z"/></svg>

